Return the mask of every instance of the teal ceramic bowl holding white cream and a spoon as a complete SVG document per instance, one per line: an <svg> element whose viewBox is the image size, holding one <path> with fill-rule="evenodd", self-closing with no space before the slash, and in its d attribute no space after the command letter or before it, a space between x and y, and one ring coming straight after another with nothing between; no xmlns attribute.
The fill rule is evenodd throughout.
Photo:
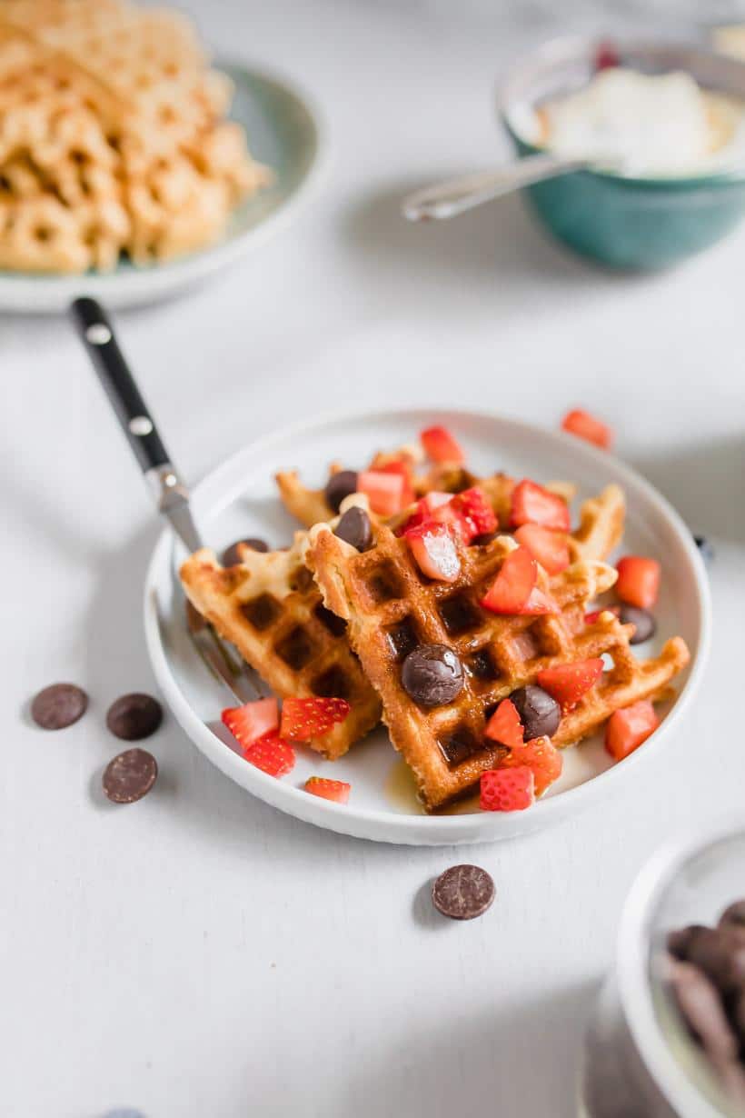
<svg viewBox="0 0 745 1118"><path fill-rule="evenodd" d="M745 101L745 63L691 45L618 44L624 66L647 74L682 69L705 88ZM580 88L599 42L558 39L523 59L504 83L498 108L520 157L538 151L519 134L529 108ZM690 178L627 178L582 170L528 187L541 225L574 252L613 268L670 267L725 237L745 216L745 164Z"/></svg>

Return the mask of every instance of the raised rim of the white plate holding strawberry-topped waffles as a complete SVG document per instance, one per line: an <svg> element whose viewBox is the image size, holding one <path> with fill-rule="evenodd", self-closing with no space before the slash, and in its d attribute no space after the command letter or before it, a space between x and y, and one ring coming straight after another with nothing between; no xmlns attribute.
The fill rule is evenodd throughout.
<svg viewBox="0 0 745 1118"><path fill-rule="evenodd" d="M314 415L312 418L299 419L295 423L274 428L260 438L247 443L211 470L194 486L192 500L199 501L201 493L208 487L220 487L221 484L225 484L222 482L223 476L231 474L236 470L236 464L240 461L241 456L248 453L251 455L260 454L262 447L269 447L277 442L294 439L303 433L317 427L364 420L381 421L391 416L398 418L410 417L412 421L414 421L414 417L419 417L416 419L416 423L420 423L423 416L429 417L431 421L445 421L449 417L450 419L456 418L464 421L490 419L507 423L525 439L538 437L547 439L550 444L553 443L560 448L571 447L573 453L584 456L589 465L593 463L596 465L606 465L608 463L606 451L596 449L590 444L562 430L539 427L504 411L491 409L479 409L476 411L469 408L447 407L332 409L321 415ZM708 575L698 548L694 542L693 533L668 499L648 482L646 477L621 458L613 456L613 463L614 468L620 474L621 484L625 482L628 486L641 491L658 508L658 511L662 513L669 527L674 530L678 542L682 546L682 550L689 560L697 591L695 604L699 626L698 647L691 656L688 678L676 699L672 710L668 712L660 727L652 735L652 749L636 750L622 764L613 765L609 769L596 774L590 780L569 788L557 796L541 799L529 811L520 813L475 812L462 815L407 815L404 813L379 808L350 809L350 805L344 805L342 808L338 804L316 796L308 796L302 788L285 784L268 776L260 769L248 766L242 758L226 747L225 742L220 741L213 731L202 722L192 711L188 700L181 692L171 672L165 648L160 638L160 612L157 608L159 572L164 563L171 563L172 567L171 560L174 548L172 531L166 525L155 543L145 575L144 628L151 666L169 708L174 713L176 721L181 724L187 736L200 751L246 792L256 795L259 799L270 804L273 807L277 807L285 814L303 819L306 823L315 824L324 830L335 831L354 837L422 846L496 842L548 827L560 822L566 815L582 811L585 806L589 806L591 797L598 795L599 787L602 786L603 789L608 789L613 780L618 785L619 780L627 779L630 773L636 771L640 765L643 765L643 758L650 757L652 750L655 750L655 754L659 752L660 742L669 738L670 729L678 722L680 716L687 710L688 704L698 691L711 644L713 615L710 587ZM219 747L219 749L216 747ZM519 816L519 818L516 818L516 816ZM388 834L376 833L381 830L388 831Z"/></svg>

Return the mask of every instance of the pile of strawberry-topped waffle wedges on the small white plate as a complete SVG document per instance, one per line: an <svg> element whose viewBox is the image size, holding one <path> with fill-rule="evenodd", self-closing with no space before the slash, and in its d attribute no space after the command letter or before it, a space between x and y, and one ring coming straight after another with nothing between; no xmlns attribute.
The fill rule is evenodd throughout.
<svg viewBox="0 0 745 1118"><path fill-rule="evenodd" d="M639 661L630 648L633 626L622 625L610 610L586 622L590 604L615 581L603 560L623 530L618 486L583 504L580 524L567 537L571 566L553 577L539 569L538 585L558 612L507 617L479 603L516 547L509 537L458 544L457 581L438 582L421 574L408 541L395 534L399 518L385 523L372 517L372 546L359 552L334 534L324 491L305 489L294 474L278 482L287 508L312 524L309 530L298 532L287 552L245 550L241 562L229 569L212 552L197 552L182 569L187 594L277 694L333 693L350 700L350 718L313 743L326 756L345 752L382 709L391 741L430 811L472 792L481 773L499 764L502 748L485 738L486 722L502 699L535 683L544 669L603 655L611 664L564 712L553 742L565 747L595 732L615 710L667 697L670 681L688 662L680 637L668 641L658 656ZM440 468L418 477L416 490L421 495L446 482L452 490L478 485L505 522L513 479ZM571 486L553 489L571 496ZM401 683L401 664L422 644L446 645L465 669L458 699L436 709L418 705Z"/></svg>

